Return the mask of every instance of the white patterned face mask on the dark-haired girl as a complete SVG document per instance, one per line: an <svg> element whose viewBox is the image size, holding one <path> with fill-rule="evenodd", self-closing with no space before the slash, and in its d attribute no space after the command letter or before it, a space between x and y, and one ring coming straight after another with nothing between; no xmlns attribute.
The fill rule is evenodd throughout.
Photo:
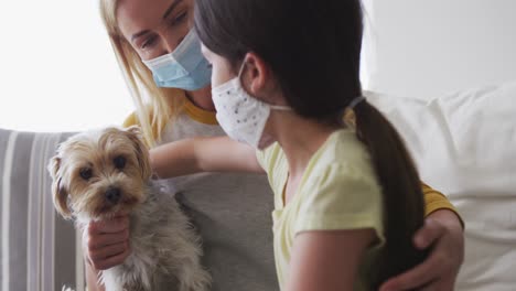
<svg viewBox="0 0 516 291"><path fill-rule="evenodd" d="M258 149L270 110L292 110L256 99L241 87L240 72L235 78L212 88L217 121L229 138Z"/></svg>

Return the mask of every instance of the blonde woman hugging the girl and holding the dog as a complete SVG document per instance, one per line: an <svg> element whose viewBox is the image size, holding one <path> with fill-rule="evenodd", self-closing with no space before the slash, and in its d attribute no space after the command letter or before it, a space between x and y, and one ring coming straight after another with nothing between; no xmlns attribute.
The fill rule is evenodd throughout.
<svg viewBox="0 0 516 291"><path fill-rule="evenodd" d="M137 105L137 114L125 125L142 126L150 146L223 134L216 125L208 85L193 89L181 88L184 84L159 83L143 63L179 48L191 31L193 1L101 0L100 9ZM191 51L198 52L196 47ZM203 76L196 74L187 83L203 84L197 78ZM266 180L259 175L209 173L174 182L183 193L181 202L202 233L205 263L214 276L213 290L277 290L269 228L272 205ZM420 267L393 279L386 287L405 290L428 282L430 287L453 287L462 258L452 255L463 251L460 220L442 195L426 186L423 190L429 218L417 236L422 239L418 246L433 244L436 248ZM240 203L244 200L247 203ZM127 217L121 216L93 223L85 230L89 290L103 289L96 282L97 269L108 269L127 257L128 229Z"/></svg>

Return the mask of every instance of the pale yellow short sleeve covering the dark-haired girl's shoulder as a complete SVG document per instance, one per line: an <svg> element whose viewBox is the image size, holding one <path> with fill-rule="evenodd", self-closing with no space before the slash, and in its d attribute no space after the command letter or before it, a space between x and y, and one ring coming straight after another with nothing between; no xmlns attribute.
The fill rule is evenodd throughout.
<svg viewBox="0 0 516 291"><path fill-rule="evenodd" d="M367 149L353 131L334 132L305 171L295 233L373 228L383 239L381 187Z"/></svg>

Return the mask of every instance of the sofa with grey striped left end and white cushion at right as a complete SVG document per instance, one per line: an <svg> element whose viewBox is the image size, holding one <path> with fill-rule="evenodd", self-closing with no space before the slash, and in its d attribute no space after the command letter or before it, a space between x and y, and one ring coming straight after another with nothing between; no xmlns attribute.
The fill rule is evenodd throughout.
<svg viewBox="0 0 516 291"><path fill-rule="evenodd" d="M365 94L404 137L422 180L465 220L456 290L516 290L516 82L429 101ZM54 211L46 163L71 132L0 129L0 291L84 290L78 234Z"/></svg>

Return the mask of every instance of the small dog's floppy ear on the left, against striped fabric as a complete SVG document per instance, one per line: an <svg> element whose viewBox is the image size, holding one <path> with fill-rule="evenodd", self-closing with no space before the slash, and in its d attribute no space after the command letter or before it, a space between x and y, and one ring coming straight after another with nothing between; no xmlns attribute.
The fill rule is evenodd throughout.
<svg viewBox="0 0 516 291"><path fill-rule="evenodd" d="M54 197L55 209L65 218L72 218L72 213L68 208L68 192L62 184L62 175L60 172L61 169L61 158L55 155L51 159L49 163L49 172L52 177L52 196Z"/></svg>

